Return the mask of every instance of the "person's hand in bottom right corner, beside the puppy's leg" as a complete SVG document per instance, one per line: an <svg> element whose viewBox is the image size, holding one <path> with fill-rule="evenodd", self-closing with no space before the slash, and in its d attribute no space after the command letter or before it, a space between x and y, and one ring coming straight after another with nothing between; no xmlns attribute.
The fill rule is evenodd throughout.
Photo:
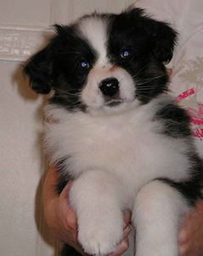
<svg viewBox="0 0 203 256"><path fill-rule="evenodd" d="M186 216L178 236L179 256L203 255L203 201Z"/></svg>

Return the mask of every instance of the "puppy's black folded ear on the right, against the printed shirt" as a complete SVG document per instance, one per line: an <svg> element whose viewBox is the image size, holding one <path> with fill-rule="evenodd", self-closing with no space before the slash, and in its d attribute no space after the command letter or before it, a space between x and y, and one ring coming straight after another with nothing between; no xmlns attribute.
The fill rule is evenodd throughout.
<svg viewBox="0 0 203 256"><path fill-rule="evenodd" d="M172 60L178 33L166 22L150 20L149 23L150 49L158 61L168 63Z"/></svg>

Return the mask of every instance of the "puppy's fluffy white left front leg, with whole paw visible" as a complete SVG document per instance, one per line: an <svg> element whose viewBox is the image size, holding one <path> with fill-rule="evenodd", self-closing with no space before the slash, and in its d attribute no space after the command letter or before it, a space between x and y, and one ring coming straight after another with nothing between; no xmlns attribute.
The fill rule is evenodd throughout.
<svg viewBox="0 0 203 256"><path fill-rule="evenodd" d="M78 240L86 253L106 255L121 241L121 186L106 172L83 173L70 188L70 204L78 219Z"/></svg>

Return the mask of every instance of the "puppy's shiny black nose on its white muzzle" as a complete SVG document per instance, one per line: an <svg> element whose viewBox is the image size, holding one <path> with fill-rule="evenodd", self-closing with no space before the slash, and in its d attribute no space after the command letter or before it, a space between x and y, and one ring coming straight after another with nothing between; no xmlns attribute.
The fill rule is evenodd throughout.
<svg viewBox="0 0 203 256"><path fill-rule="evenodd" d="M119 90L119 82L117 79L104 79L99 84L99 89L104 96L115 96Z"/></svg>

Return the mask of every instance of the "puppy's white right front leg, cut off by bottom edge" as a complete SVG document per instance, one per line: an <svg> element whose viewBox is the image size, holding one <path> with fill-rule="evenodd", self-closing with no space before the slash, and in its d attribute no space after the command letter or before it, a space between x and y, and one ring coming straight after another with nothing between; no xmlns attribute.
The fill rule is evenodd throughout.
<svg viewBox="0 0 203 256"><path fill-rule="evenodd" d="M178 190L158 180L146 184L133 209L136 256L178 256L179 219L188 210Z"/></svg>

